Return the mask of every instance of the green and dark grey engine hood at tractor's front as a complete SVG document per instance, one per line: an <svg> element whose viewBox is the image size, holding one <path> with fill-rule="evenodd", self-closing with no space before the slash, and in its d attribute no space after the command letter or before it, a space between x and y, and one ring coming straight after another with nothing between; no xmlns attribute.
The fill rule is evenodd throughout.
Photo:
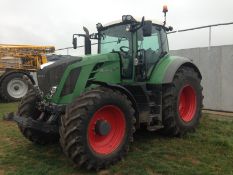
<svg viewBox="0 0 233 175"><path fill-rule="evenodd" d="M57 86L51 100L54 103L60 103L61 98L71 94L77 84L79 84L78 93L76 92L73 97L83 92L89 86L89 80L92 79L119 82L119 69L120 55L118 53L83 57L63 56L63 59L43 65L43 68L38 71L38 85L44 95L47 95L53 86ZM69 100L66 99L61 103L67 103Z"/></svg>

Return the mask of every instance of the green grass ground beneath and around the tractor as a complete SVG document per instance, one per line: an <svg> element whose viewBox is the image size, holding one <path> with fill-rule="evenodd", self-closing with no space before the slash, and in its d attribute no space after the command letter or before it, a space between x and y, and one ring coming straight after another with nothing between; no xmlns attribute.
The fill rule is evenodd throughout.
<svg viewBox="0 0 233 175"><path fill-rule="evenodd" d="M0 104L0 115L16 104ZM38 146L27 141L13 122L0 119L0 175L96 174L74 166L59 144ZM203 115L195 133L183 138L165 138L157 133L137 131L127 157L107 174L205 174L233 175L233 121Z"/></svg>

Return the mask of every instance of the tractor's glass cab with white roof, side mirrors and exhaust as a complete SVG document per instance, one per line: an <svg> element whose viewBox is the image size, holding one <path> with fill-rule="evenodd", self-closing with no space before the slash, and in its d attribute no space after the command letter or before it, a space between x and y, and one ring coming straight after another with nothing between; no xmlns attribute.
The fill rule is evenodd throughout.
<svg viewBox="0 0 233 175"><path fill-rule="evenodd" d="M156 63L169 51L166 31L171 28L161 22L123 15L122 20L106 25L98 23L96 27L98 33L89 35L85 28L86 35L77 34L85 37L85 53L91 53L86 52L91 50L90 39L98 39L99 54L120 55L121 77L125 80L149 79ZM76 44L75 40L74 37L73 44Z"/></svg>

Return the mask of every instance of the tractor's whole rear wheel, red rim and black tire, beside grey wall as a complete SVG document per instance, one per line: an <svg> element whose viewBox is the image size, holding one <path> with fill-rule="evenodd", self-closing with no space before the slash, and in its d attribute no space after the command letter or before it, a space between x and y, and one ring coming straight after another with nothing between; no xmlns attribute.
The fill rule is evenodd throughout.
<svg viewBox="0 0 233 175"><path fill-rule="evenodd" d="M163 87L162 134L181 136L194 131L202 108L202 86L198 73L191 67L181 67L172 84Z"/></svg>

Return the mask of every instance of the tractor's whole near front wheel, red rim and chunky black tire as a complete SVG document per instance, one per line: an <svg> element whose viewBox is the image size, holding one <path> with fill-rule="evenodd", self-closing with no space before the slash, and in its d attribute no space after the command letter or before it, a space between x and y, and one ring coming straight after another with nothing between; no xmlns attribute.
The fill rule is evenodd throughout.
<svg viewBox="0 0 233 175"><path fill-rule="evenodd" d="M102 169L129 150L135 131L131 101L118 91L97 88L79 96L62 116L60 143L78 166Z"/></svg>

